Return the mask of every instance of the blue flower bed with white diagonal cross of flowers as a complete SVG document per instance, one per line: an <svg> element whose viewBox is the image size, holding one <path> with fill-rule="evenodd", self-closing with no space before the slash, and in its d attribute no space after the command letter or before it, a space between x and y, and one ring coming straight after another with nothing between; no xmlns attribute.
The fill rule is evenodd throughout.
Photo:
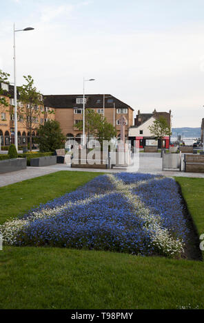
<svg viewBox="0 0 204 323"><path fill-rule="evenodd" d="M181 256L187 227L174 179L102 175L0 226L8 245Z"/></svg>

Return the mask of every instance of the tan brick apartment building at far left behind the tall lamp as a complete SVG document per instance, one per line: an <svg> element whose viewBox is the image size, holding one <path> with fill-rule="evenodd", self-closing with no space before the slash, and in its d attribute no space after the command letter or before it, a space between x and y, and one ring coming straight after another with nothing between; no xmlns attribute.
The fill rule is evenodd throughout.
<svg viewBox="0 0 204 323"><path fill-rule="evenodd" d="M8 107L4 107L2 104L0 105L1 146L9 146L10 144L14 144L14 86L1 82L0 88L3 90L1 97L5 98L6 102L8 102ZM25 117L28 106L27 104L22 104L19 102L18 91L17 104L17 109L19 111L25 109L25 113L23 113L23 115L20 112L18 113L18 144L19 146L26 146L30 142L30 130L28 126L29 120L27 120ZM36 109L36 113L34 113L34 117L32 117L32 136L35 137L37 135L37 127L39 124L43 124L48 119L54 120L55 115L54 109L46 107L44 104L32 107L32 109ZM53 114L49 113L50 109Z"/></svg>

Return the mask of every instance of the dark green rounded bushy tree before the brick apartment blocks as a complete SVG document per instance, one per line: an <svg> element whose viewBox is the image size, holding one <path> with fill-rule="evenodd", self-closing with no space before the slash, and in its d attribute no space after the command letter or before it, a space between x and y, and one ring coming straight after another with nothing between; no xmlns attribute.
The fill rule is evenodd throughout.
<svg viewBox="0 0 204 323"><path fill-rule="evenodd" d="M64 147L65 136L61 132L58 121L48 120L45 124L40 124L37 132L36 142L39 144L39 150L41 152L55 151L56 149Z"/></svg>

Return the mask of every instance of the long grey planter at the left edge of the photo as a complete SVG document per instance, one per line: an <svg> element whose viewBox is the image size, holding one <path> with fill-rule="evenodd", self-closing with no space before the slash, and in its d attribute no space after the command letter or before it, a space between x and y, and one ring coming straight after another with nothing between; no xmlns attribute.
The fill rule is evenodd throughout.
<svg viewBox="0 0 204 323"><path fill-rule="evenodd" d="M13 158L0 161L0 174L26 169L26 158Z"/></svg>

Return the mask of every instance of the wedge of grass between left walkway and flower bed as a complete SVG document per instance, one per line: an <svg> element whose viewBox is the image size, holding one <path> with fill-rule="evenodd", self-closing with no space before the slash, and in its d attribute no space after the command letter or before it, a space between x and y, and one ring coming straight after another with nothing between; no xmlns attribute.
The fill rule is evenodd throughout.
<svg viewBox="0 0 204 323"><path fill-rule="evenodd" d="M68 172L62 170L53 174L27 179L0 188L0 224L10 217L25 213L34 205L45 203L65 192L76 190L100 172Z"/></svg>

